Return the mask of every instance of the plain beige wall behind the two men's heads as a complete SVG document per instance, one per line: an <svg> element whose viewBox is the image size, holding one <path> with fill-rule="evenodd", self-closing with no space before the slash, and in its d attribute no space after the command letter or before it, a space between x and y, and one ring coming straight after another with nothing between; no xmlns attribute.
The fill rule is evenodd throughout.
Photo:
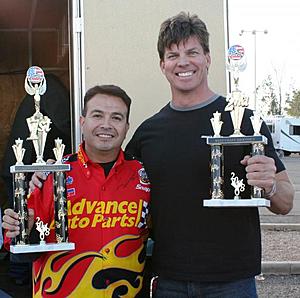
<svg viewBox="0 0 300 298"><path fill-rule="evenodd" d="M170 98L159 68L156 43L160 24L180 11L196 13L210 32L211 88L226 93L223 0L84 1L86 88L113 83L133 99L131 129Z"/></svg>

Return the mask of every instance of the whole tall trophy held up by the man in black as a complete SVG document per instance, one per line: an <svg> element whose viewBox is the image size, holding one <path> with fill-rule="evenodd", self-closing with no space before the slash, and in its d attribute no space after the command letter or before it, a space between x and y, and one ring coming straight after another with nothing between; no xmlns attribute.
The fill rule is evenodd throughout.
<svg viewBox="0 0 300 298"><path fill-rule="evenodd" d="M264 145L268 140L260 134L262 119L257 112L251 116L251 124L254 134L245 136L241 133L240 127L245 108L248 106L249 99L239 90L239 72L245 70L246 60L244 48L234 45L228 50L228 70L233 74L234 90L227 96L226 112L230 112L234 132L230 136L221 136L221 113L216 111L210 119L214 135L206 137L206 143L211 146L211 198L205 199L203 205L206 207L270 207L270 201L264 198L262 188L252 186L251 197L242 198L241 193L245 191L246 181L243 181L236 173L230 173L231 187L234 191L233 198L224 198L223 184L226 160L224 159L224 146L244 146L251 145L252 156L264 155Z"/></svg>

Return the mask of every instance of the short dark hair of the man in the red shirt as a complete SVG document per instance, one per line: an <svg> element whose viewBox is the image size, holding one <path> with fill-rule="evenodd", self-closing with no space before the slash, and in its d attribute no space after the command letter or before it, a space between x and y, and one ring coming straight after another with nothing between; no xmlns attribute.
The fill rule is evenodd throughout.
<svg viewBox="0 0 300 298"><path fill-rule="evenodd" d="M127 93L122 88L115 86L115 85L100 85L100 86L97 85L97 86L90 88L85 93L85 96L84 96L84 106L83 106L83 110L82 110L82 116L84 116L84 117L86 116L87 103L97 94L105 94L105 95L111 95L111 96L121 98L127 107L126 120L128 123L131 98L127 95Z"/></svg>

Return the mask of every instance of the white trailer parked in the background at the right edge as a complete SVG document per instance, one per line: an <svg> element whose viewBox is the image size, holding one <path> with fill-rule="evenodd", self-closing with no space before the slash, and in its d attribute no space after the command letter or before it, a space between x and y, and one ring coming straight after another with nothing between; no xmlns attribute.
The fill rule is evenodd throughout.
<svg viewBox="0 0 300 298"><path fill-rule="evenodd" d="M271 116L264 120L279 156L300 153L300 118Z"/></svg>

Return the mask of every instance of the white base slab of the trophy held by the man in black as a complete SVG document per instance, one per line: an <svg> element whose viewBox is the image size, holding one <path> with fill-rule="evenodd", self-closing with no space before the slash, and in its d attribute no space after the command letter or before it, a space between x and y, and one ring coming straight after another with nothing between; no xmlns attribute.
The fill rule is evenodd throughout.
<svg viewBox="0 0 300 298"><path fill-rule="evenodd" d="M270 200L264 198L253 199L209 199L203 201L204 207L270 207Z"/></svg>

